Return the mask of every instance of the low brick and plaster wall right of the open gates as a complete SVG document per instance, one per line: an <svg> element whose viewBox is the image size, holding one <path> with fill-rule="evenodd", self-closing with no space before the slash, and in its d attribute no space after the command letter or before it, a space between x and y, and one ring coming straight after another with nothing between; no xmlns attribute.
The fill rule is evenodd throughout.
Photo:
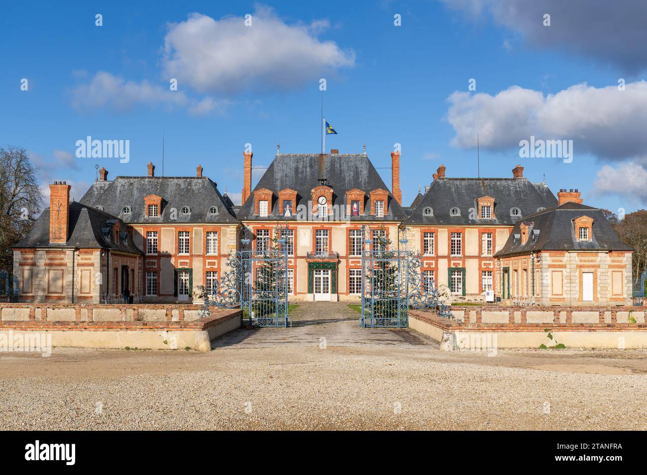
<svg viewBox="0 0 647 475"><path fill-rule="evenodd" d="M629 311L636 323L628 322ZM432 311L411 310L409 327L434 341L459 341L463 337L490 338L497 348L538 348L563 343L569 348L647 348L647 324L642 307L545 308L466 307L452 308L456 320L443 319ZM545 330L551 329L553 340ZM441 345L442 349L443 345Z"/></svg>

